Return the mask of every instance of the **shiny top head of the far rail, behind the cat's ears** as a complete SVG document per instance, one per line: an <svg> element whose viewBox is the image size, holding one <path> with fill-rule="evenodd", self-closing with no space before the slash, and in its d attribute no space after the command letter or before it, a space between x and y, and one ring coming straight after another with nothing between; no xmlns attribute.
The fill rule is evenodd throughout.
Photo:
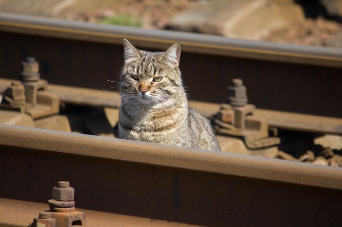
<svg viewBox="0 0 342 227"><path fill-rule="evenodd" d="M122 44L122 39L127 38L139 47L152 49L165 49L178 42L183 51L190 53L342 67L342 49L339 48L296 46L9 13L0 13L0 31L111 44Z"/></svg>

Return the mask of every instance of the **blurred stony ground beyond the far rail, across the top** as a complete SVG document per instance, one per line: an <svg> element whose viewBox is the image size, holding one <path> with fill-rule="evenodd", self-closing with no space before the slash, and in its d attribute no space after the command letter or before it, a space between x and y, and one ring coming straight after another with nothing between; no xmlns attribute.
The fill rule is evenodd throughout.
<svg viewBox="0 0 342 227"><path fill-rule="evenodd" d="M342 0L0 0L0 11L342 47Z"/></svg>

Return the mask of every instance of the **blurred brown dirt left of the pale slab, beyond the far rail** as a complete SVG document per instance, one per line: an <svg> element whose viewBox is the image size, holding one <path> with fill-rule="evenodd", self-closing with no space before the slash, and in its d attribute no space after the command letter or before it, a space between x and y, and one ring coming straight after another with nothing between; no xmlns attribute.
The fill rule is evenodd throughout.
<svg viewBox="0 0 342 227"><path fill-rule="evenodd" d="M113 24L161 28L175 14L205 0L0 0L0 11L85 22L115 18ZM127 24L128 23L128 24Z"/></svg>

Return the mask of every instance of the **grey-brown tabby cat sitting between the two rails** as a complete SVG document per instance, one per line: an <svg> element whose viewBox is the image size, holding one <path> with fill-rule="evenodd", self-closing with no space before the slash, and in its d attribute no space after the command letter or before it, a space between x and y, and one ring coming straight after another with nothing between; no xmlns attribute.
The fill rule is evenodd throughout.
<svg viewBox="0 0 342 227"><path fill-rule="evenodd" d="M123 46L119 138L221 151L209 120L188 107L180 45L164 53L138 50L126 39Z"/></svg>

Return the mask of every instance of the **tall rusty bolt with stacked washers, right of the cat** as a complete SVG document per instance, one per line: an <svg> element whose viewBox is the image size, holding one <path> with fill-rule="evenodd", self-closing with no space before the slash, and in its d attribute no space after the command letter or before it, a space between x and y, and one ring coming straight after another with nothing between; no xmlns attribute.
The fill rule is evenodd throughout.
<svg viewBox="0 0 342 227"><path fill-rule="evenodd" d="M232 86L228 87L229 104L233 107L244 107L248 103L246 87L241 79L233 79Z"/></svg>

